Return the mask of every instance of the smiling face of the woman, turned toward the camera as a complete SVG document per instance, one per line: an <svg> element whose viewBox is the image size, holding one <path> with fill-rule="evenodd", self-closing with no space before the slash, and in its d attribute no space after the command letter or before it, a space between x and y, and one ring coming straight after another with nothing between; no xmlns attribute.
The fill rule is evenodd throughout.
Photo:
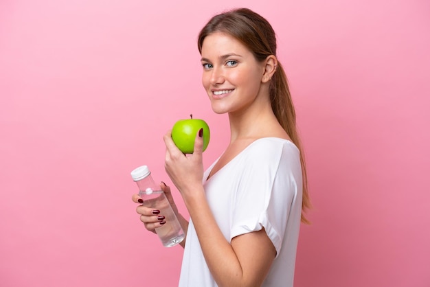
<svg viewBox="0 0 430 287"><path fill-rule="evenodd" d="M206 36L201 49L202 83L215 113L238 113L261 94L264 62L229 34Z"/></svg>

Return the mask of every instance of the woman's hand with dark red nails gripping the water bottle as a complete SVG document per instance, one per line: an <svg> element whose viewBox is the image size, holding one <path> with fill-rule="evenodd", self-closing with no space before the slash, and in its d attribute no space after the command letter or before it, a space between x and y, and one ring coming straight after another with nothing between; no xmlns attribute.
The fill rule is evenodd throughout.
<svg viewBox="0 0 430 287"><path fill-rule="evenodd" d="M168 187L165 183L161 183L160 187L161 190L163 190L164 194L166 194L166 197L168 198L169 203L172 206L174 214L178 216L178 208L174 203L172 194L170 193L170 187ZM144 200L138 194L133 194L131 199L135 203L144 203ZM157 227L161 227L161 225L166 223L166 218L163 216L163 214L160 214L159 209L139 205L136 208L136 212L137 214L140 214L140 220L144 222L145 228L153 233L155 233L155 229Z"/></svg>

